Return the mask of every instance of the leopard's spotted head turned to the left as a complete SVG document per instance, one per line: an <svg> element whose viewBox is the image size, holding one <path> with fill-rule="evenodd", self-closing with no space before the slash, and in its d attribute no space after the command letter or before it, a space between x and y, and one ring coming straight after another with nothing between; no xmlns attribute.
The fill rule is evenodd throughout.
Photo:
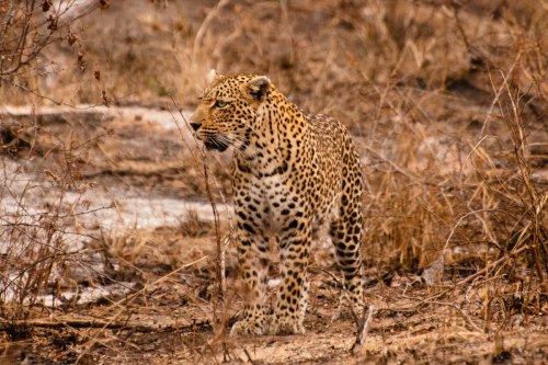
<svg viewBox="0 0 548 365"><path fill-rule="evenodd" d="M273 88L271 81L256 75L225 77L215 70L208 81L191 126L208 149L224 151L232 146L243 151L255 133L258 111Z"/></svg>

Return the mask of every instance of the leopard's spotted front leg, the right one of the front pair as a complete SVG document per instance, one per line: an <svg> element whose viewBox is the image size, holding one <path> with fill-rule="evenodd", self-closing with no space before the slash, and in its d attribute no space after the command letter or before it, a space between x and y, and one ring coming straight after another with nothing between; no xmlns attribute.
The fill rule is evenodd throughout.
<svg viewBox="0 0 548 365"><path fill-rule="evenodd" d="M310 225L289 218L279 235L281 283L271 324L272 334L305 333L302 324L308 301L308 253Z"/></svg>

